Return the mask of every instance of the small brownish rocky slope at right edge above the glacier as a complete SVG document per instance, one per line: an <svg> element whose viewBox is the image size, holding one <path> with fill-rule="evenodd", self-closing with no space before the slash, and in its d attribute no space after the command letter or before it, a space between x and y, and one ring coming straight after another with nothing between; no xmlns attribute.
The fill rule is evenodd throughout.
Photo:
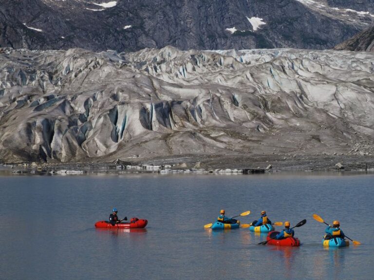
<svg viewBox="0 0 374 280"><path fill-rule="evenodd" d="M374 26L337 45L335 50L374 52Z"/></svg>

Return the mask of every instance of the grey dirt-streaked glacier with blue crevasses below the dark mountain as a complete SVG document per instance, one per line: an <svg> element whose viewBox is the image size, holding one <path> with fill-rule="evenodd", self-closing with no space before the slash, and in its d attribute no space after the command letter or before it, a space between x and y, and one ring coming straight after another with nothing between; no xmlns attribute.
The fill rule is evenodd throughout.
<svg viewBox="0 0 374 280"><path fill-rule="evenodd" d="M0 49L0 160L371 154L374 53Z"/></svg>

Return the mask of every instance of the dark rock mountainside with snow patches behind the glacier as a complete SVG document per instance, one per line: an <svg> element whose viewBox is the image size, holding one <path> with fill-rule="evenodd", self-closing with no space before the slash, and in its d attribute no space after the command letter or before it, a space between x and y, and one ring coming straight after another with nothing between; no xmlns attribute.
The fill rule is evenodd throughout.
<svg viewBox="0 0 374 280"><path fill-rule="evenodd" d="M0 47L330 49L370 26L373 6L374 0L5 0Z"/></svg>

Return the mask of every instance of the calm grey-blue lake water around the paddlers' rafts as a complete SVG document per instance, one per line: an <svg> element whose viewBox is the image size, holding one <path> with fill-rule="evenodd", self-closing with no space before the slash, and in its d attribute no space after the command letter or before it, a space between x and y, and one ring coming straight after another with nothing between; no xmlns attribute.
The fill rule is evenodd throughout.
<svg viewBox="0 0 374 280"><path fill-rule="evenodd" d="M0 176L0 279L336 279L374 273L374 175ZM143 231L95 229L113 207ZM257 245L248 228L211 232L220 209L290 220L302 245ZM325 249L340 221L362 245ZM281 227L278 227L281 229Z"/></svg>

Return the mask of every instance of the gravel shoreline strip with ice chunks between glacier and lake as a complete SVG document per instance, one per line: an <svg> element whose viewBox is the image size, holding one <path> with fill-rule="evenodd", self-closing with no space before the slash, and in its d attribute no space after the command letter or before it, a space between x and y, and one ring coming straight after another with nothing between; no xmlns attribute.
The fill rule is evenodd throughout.
<svg viewBox="0 0 374 280"><path fill-rule="evenodd" d="M2 173L75 175L87 173L215 173L254 174L279 171L374 171L373 156L347 155L184 155L147 160L76 163L3 164Z"/></svg>

